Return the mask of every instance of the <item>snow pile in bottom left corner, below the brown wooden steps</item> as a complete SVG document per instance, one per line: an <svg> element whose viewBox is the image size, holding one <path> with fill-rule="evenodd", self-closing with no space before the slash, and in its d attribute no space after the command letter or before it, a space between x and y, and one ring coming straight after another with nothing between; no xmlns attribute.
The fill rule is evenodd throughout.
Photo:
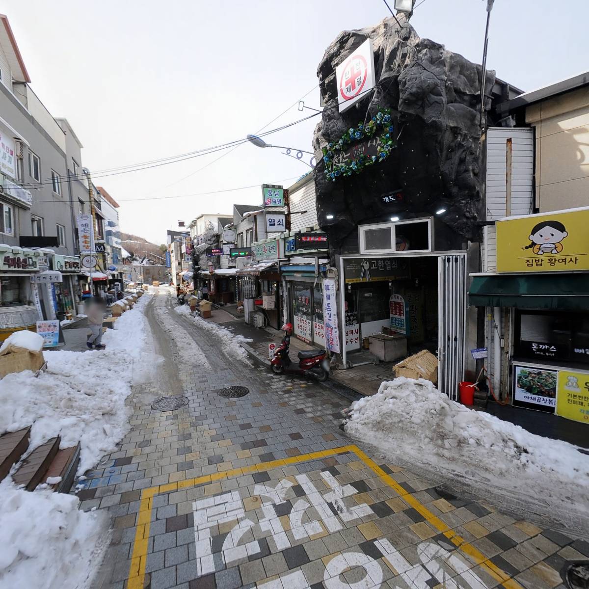
<svg viewBox="0 0 589 589"><path fill-rule="evenodd" d="M78 498L28 492L0 483L0 587L79 589L100 564L107 540L103 512L78 509Z"/></svg>

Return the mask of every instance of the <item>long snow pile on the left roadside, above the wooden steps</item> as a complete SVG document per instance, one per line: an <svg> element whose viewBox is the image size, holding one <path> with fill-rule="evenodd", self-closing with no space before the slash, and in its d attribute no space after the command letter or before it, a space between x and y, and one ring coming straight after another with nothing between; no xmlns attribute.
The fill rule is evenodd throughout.
<svg viewBox="0 0 589 589"><path fill-rule="evenodd" d="M0 435L32 423L30 451L58 434L61 448L80 441L78 474L114 451L129 429L125 399L131 385L151 380L157 365L143 315L147 299L107 330L106 350L46 351L48 368L38 378L26 370L0 380Z"/></svg>

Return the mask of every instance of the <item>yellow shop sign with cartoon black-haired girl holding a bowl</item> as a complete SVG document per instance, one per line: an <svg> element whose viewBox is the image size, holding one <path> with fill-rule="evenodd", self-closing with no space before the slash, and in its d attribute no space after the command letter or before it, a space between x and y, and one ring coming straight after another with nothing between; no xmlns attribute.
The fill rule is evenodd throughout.
<svg viewBox="0 0 589 589"><path fill-rule="evenodd" d="M497 272L589 270L589 207L497 221Z"/></svg>

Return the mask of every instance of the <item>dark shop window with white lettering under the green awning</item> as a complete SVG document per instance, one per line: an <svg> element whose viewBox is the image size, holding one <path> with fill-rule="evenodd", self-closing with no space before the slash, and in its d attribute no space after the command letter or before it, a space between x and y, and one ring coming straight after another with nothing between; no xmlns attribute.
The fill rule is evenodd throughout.
<svg viewBox="0 0 589 589"><path fill-rule="evenodd" d="M589 312L515 312L515 356L525 360L589 362Z"/></svg>

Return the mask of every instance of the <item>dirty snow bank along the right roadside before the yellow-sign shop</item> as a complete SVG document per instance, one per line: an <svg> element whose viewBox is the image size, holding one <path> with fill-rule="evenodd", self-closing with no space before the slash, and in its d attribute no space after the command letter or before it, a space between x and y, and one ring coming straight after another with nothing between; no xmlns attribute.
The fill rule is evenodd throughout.
<svg viewBox="0 0 589 589"><path fill-rule="evenodd" d="M346 432L395 462L589 530L589 456L576 446L468 409L422 379L383 382L351 409Z"/></svg>

